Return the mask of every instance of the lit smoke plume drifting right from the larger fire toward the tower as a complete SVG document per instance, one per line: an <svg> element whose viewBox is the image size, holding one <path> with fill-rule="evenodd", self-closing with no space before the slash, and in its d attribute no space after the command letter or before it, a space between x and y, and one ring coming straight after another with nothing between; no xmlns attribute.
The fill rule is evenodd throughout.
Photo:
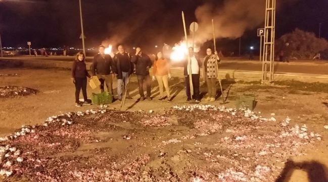
<svg viewBox="0 0 328 182"><path fill-rule="evenodd" d="M279 1L277 9L296 1ZM245 31L253 30L264 22L264 8L264 0L225 0L220 5L204 4L195 11L199 23L195 41L202 44L213 39L211 19L214 19L216 38L239 38Z"/></svg>

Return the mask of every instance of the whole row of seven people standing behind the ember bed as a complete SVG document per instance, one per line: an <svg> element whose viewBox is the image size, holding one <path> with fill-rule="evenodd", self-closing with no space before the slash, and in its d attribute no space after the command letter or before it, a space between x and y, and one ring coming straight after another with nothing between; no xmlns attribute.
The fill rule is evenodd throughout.
<svg viewBox="0 0 328 182"><path fill-rule="evenodd" d="M152 63L150 57L145 54L140 47L135 49L135 54L132 56L124 51L123 45L117 47L118 52L113 56L105 54L105 47L99 46L99 53L93 58L93 64L91 67L92 76L97 76L101 85L100 90L104 92L105 85L107 91L113 94L113 77L117 79L117 96L118 100L123 98L123 90L127 89L127 84L130 80L130 76L134 72L138 80L138 90L140 101L145 99L152 100L151 97L151 82L152 80L158 81L160 98L159 100L167 99L171 101L170 89L168 80L171 78L170 63L167 58L164 57L163 52L159 51L155 55L155 61ZM200 102L200 68L203 67L203 76L206 79L208 87L208 97L206 101L215 101L216 96L216 78L217 78L217 63L219 57L217 52L212 53L212 50L208 48L206 50L207 56L203 61L198 58L193 47L189 48L189 55L191 58L191 64L188 61L184 62L184 80L186 87L187 101L195 99L196 102ZM86 70L84 62L85 55L82 52L78 52L72 67L72 80L75 84L75 102L76 106L82 106L83 104L89 105L91 101L86 96L86 79L91 76ZM153 66L153 76L151 78L149 70ZM189 67L190 66L190 67ZM191 95L190 88L190 74L193 83L194 95ZM146 86L146 93L144 95L144 84ZM164 93L165 88L165 93ZM79 93L82 89L84 102L79 101ZM129 91L126 91L126 99L132 99L129 95Z"/></svg>

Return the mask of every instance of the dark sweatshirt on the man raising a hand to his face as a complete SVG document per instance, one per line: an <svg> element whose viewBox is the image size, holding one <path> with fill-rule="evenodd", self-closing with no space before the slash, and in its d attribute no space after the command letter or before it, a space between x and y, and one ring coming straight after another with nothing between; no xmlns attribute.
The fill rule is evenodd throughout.
<svg viewBox="0 0 328 182"><path fill-rule="evenodd" d="M141 56L134 55L131 59L131 62L135 64L136 75L149 75L149 69L152 67L153 64L152 60L150 60L150 57L147 54L142 53Z"/></svg>

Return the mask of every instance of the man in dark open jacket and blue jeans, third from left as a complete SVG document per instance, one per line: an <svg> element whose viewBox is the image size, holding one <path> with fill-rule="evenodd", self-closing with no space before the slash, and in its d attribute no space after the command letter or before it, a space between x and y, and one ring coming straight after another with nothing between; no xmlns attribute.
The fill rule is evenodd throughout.
<svg viewBox="0 0 328 182"><path fill-rule="evenodd" d="M114 64L113 64L113 72L117 77L117 95L118 99L122 100L123 90L126 89L126 85L129 80L129 76L133 72L133 64L131 63L131 58L129 53L124 51L124 47L119 45L117 47L118 53L114 55ZM124 88L123 88L124 83ZM129 91L126 92L126 98L132 99L129 95Z"/></svg>

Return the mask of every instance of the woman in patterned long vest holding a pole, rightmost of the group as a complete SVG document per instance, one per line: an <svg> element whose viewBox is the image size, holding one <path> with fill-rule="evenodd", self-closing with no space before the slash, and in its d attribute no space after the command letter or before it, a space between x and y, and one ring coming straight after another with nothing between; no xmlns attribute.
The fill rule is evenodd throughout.
<svg viewBox="0 0 328 182"><path fill-rule="evenodd" d="M217 52L212 53L212 49L206 49L207 56L205 57L203 70L204 78L206 79L207 84L207 93L208 97L206 101L215 101L216 97L216 78L217 78L217 63L220 62L220 58L217 55Z"/></svg>

